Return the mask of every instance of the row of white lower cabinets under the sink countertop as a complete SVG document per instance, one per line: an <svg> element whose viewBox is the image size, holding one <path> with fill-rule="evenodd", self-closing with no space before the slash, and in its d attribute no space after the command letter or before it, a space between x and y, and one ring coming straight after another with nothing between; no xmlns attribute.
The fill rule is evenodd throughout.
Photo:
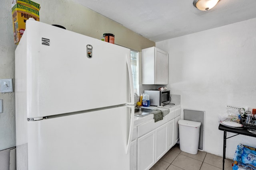
<svg viewBox="0 0 256 170"><path fill-rule="evenodd" d="M163 120L146 121L134 127L130 148L130 169L150 169L179 140L181 109L173 108Z"/></svg>

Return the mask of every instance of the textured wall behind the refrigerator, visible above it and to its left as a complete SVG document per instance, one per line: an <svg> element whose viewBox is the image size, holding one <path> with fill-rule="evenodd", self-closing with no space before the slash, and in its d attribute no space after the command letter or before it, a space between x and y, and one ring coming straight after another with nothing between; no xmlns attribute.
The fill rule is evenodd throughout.
<svg viewBox="0 0 256 170"><path fill-rule="evenodd" d="M155 45L138 35L84 6L71 0L34 0L41 5L40 21L63 25L66 29L100 39L103 33L113 33L115 43L137 51ZM0 5L0 79L14 77L14 45L12 28L12 0L2 0ZM65 35L63 35L65 36ZM0 150L16 145L15 140L15 95L0 93L3 113L0 113Z"/></svg>

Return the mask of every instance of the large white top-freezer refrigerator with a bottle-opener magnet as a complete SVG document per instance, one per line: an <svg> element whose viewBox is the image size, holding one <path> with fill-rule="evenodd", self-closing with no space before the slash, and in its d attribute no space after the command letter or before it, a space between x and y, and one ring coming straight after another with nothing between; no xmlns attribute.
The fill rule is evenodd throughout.
<svg viewBox="0 0 256 170"><path fill-rule="evenodd" d="M17 170L130 169L130 49L27 20L15 95Z"/></svg>

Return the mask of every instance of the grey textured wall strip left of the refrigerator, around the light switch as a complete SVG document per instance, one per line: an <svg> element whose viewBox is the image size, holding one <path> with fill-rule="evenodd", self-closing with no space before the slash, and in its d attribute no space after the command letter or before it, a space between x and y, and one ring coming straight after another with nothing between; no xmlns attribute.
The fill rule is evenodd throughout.
<svg viewBox="0 0 256 170"><path fill-rule="evenodd" d="M12 78L14 82L14 45L10 0L0 6L0 79ZM0 93L3 113L0 113L0 150L15 146L15 98L14 92Z"/></svg>

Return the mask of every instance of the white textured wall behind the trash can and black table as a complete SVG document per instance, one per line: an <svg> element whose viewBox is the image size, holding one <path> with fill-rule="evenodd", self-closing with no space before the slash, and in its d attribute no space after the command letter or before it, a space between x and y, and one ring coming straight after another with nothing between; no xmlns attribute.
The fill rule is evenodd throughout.
<svg viewBox="0 0 256 170"><path fill-rule="evenodd" d="M226 106L256 108L256 18L156 43L169 53L169 84L182 108L206 113L206 152L222 156L218 113ZM228 133L228 136L234 135ZM227 139L232 158L239 143L256 147L255 138Z"/></svg>

